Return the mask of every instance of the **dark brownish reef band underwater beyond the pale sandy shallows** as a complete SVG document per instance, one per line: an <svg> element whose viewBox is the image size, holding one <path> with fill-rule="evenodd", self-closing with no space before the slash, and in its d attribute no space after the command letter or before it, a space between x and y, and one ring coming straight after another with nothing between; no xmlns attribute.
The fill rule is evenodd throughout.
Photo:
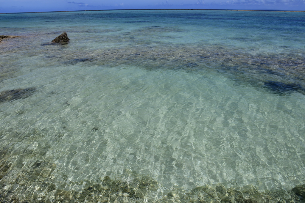
<svg viewBox="0 0 305 203"><path fill-rule="evenodd" d="M104 30L103 32L117 31L119 30ZM161 31L167 33L181 32L183 30L175 27L149 26L137 30L136 33L125 32L120 35L109 35L103 38L103 43L106 44L111 44L115 41L123 44L128 42L135 46L114 46L111 49L109 47L92 47L88 50L79 47L79 49L71 49L69 52L56 50L56 48L50 52L46 48L41 51L45 54L45 59L50 58L52 63L63 63L64 65L90 62L90 65L108 64L115 66L124 64L139 66L148 70L159 68L183 69L185 71L211 69L221 72L221 74L224 73L226 77L233 81L249 83L259 89L267 89L269 93L284 95L286 93L299 92L305 94L305 59L302 55L304 54L303 51L299 51L299 53L302 53L301 55L296 53L253 55L243 49L220 45L184 44L168 46L168 44L156 43L155 45L147 46L151 41L143 40L143 37L153 37L153 34ZM33 35L34 37L35 35ZM31 40L36 41L37 39ZM24 47L29 46L23 41L19 42L19 45L21 44L24 44ZM49 42L41 45L53 45L56 47L55 45L65 46L65 44L66 42ZM13 50L22 49L23 47L15 47ZM2 53L11 51L9 47L1 50ZM28 54L35 54L34 52L36 51L29 51ZM8 66L7 69L13 68ZM292 84L296 84L296 86Z"/></svg>

